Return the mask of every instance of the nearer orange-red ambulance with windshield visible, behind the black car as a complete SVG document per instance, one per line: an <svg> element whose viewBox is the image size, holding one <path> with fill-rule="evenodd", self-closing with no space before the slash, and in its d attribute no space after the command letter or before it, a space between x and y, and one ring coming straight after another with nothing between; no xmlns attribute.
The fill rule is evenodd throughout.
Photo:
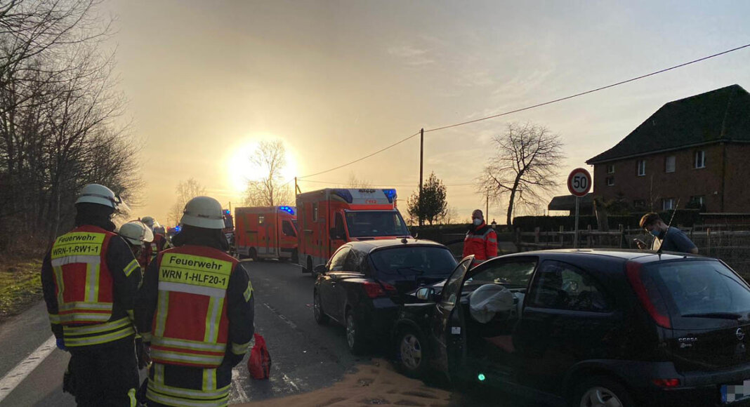
<svg viewBox="0 0 750 407"><path fill-rule="evenodd" d="M297 195L299 265L314 273L349 241L409 237L394 189L326 188Z"/></svg>

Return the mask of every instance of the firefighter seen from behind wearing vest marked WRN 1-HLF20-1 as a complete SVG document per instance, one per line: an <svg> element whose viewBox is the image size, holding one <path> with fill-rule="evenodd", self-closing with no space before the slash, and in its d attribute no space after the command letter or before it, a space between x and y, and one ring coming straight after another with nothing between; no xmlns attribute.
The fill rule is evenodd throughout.
<svg viewBox="0 0 750 407"><path fill-rule="evenodd" d="M232 368L254 334L253 286L224 253L220 203L185 205L175 248L148 265L136 299L136 325L150 344L149 406L226 406Z"/></svg>

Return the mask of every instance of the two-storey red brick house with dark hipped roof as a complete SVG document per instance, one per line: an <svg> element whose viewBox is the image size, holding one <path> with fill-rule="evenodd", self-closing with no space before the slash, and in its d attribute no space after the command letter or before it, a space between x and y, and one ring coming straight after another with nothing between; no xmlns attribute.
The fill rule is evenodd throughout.
<svg viewBox="0 0 750 407"><path fill-rule="evenodd" d="M750 212L750 94L739 85L669 102L586 161L595 196L636 210Z"/></svg>

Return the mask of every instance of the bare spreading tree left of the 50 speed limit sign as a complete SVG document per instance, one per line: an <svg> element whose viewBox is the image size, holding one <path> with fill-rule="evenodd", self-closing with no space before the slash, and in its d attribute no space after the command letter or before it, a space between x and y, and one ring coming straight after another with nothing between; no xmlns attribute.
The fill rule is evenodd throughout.
<svg viewBox="0 0 750 407"><path fill-rule="evenodd" d="M478 190L489 191L495 202L508 195L505 222L511 225L517 205L534 207L558 185L557 169L565 158L562 140L546 127L511 123L505 133L493 137L493 144L496 154L487 161Z"/></svg>

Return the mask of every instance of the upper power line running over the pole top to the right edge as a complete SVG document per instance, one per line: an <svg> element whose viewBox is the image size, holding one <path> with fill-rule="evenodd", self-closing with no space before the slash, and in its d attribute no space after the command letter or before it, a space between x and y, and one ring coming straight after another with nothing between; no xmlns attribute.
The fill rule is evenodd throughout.
<svg viewBox="0 0 750 407"><path fill-rule="evenodd" d="M626 80L623 80L623 81L620 81L620 82L616 82L616 83L613 83L611 85L601 86L600 88L591 89L589 91L583 91L583 92L580 92L580 93L577 93L577 94L571 94L570 96L560 97L559 99L549 100L549 101L544 102L544 103L537 103L537 104L532 105L532 106L526 106L526 107L522 107L520 109L514 109L514 110L510 110L508 112L498 113L496 115L490 115L490 116L483 117L483 118L476 118L474 120L469 120L469 121L462 121L460 123L449 124L449 125L443 126L443 127L435 127L434 129L425 130L425 133L430 133L430 132L439 131L439 130L446 130L446 129L449 129L449 128L452 128L452 127L464 126L466 124L472 124L472 123L476 123L478 121L489 120L490 118L499 118L500 116L511 115L513 113L523 112L524 110L535 109L537 107L547 106L547 105L550 105L552 103L562 102L563 100L568 100L568 99L572 99L574 97L583 96L584 94L590 94L590 93L594 93L596 91L602 91L604 89L613 88L615 86L623 85L623 84L628 83L628 82L634 82L636 80L647 78L649 76L658 75L659 73L664 73L664 72L667 72L668 70L674 70L674 69L677 69L679 67L685 67L685 66L687 66L689 64L695 64L695 63L700 62L700 61L706 61L706 59L715 58L715 57L720 56L720 55L728 54L729 52L738 51L739 49L747 48L748 46L750 46L750 43L745 44L743 46L738 46L738 47L733 48L733 49L727 49L726 51L718 52L718 53L715 53L713 55L704 56L703 58L694 59L693 61L688 61L688 62L685 62L685 63L682 63L682 64L674 65L672 67L667 67L667 68L664 68L664 69L661 69L661 70L656 70L656 71L654 71L652 73L646 73L645 75L636 76L636 77L631 78L631 79L626 79ZM336 167L334 167L332 169L326 169L325 171L316 172L314 174L310 174L310 175L305 175L305 176L299 177L298 180L301 180L302 178L314 177L315 175L325 174L326 172L332 172L332 171L335 171L336 169L341 169L341 168L344 168L345 166L350 166L353 163L359 163L359 161L366 160L366 159L368 159L368 158L370 158L370 157L372 157L372 156L374 156L376 154L380 154L383 151L386 151L389 148L393 148L396 145L399 145L402 142L405 142L408 139L412 139L413 137L416 137L418 135L419 135L419 131L416 132L416 133L414 133L414 134L412 134L411 136L408 136L405 139L401 139L400 141L393 143L392 145L389 145L387 147L381 148L380 150L375 151L372 154L368 154L365 157L359 158L357 160L350 161L349 163L342 164L341 166L336 166Z"/></svg>

